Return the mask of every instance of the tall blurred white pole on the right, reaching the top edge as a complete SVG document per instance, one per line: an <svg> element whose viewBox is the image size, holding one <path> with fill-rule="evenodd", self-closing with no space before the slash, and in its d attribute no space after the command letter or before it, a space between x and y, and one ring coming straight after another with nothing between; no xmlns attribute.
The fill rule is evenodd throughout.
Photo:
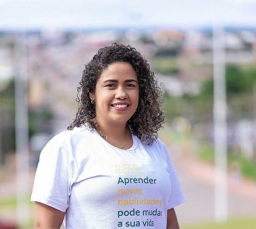
<svg viewBox="0 0 256 229"><path fill-rule="evenodd" d="M213 125L215 163L215 221L228 218L227 193L227 102L225 81L225 34L223 4L213 0Z"/></svg>

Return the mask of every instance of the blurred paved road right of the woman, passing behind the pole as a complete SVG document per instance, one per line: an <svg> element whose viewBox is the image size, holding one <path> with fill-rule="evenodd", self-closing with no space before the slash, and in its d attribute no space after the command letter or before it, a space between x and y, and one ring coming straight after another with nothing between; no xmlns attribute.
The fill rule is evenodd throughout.
<svg viewBox="0 0 256 229"><path fill-rule="evenodd" d="M214 221L214 166L184 151L167 146L187 201L175 208L181 224ZM256 182L228 175L228 218L256 217Z"/></svg>

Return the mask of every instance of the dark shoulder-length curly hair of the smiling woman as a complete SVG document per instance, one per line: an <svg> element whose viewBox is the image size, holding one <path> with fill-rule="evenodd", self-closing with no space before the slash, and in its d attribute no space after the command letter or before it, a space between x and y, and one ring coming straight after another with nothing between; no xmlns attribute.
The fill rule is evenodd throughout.
<svg viewBox="0 0 256 229"><path fill-rule="evenodd" d="M102 71L112 63L130 63L136 71L139 84L139 105L128 120L132 132L142 142L152 145L158 138L158 130L163 128L164 107L161 85L157 82L154 73L144 56L130 45L113 43L111 46L100 49L90 62L85 65L83 76L77 87L78 111L76 118L68 126L68 130L86 124L89 128L97 128L93 122L96 117L95 106L91 103L90 92L95 92L97 80ZM99 128L98 128L99 129Z"/></svg>

